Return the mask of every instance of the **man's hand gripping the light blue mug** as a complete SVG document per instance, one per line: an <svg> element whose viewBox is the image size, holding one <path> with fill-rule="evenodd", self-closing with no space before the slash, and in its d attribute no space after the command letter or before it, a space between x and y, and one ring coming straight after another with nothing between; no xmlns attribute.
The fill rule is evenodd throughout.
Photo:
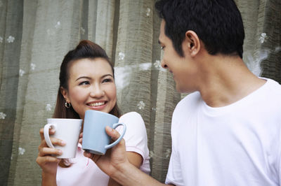
<svg viewBox="0 0 281 186"><path fill-rule="evenodd" d="M108 136L111 136L113 141L116 141L120 136L118 131L110 127L105 127L105 131ZM124 139L113 148L108 149L105 155L93 155L85 151L84 156L91 158L93 162L95 162L98 167L110 177L117 171L117 169L120 169L124 164L129 163L129 160L126 157Z"/></svg>

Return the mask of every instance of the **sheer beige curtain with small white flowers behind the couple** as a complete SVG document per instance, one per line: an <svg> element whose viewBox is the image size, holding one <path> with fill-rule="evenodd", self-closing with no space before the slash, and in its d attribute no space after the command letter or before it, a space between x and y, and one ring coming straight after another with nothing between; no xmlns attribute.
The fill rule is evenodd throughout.
<svg viewBox="0 0 281 186"><path fill-rule="evenodd" d="M281 83L280 0L237 0L244 60L257 76ZM161 69L154 0L0 0L0 183L40 185L39 129L51 117L60 63L81 39L115 62L123 113L141 113L151 175L164 182L171 154L171 115L184 95Z"/></svg>

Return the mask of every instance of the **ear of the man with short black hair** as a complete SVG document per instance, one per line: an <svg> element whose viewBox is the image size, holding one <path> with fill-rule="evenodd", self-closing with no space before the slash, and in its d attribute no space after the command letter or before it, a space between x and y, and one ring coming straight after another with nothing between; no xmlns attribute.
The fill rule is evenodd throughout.
<svg viewBox="0 0 281 186"><path fill-rule="evenodd" d="M200 39L195 31L188 30L185 32L185 47L190 52L191 57L195 57L200 51Z"/></svg>

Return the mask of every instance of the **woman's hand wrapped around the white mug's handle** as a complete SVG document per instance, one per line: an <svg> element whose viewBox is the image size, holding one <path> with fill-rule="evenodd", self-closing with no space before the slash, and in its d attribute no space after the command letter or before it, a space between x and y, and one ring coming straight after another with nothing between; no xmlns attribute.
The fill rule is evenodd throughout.
<svg viewBox="0 0 281 186"><path fill-rule="evenodd" d="M50 129L49 134L55 134L55 130ZM53 157L52 155L61 155L62 151L48 147L44 138L44 129L40 129L40 136L41 144L38 148L39 153L36 162L41 167L43 175L56 176L58 162L60 162L60 159ZM51 143L53 143L53 145L65 145L65 142L58 138L51 138Z"/></svg>

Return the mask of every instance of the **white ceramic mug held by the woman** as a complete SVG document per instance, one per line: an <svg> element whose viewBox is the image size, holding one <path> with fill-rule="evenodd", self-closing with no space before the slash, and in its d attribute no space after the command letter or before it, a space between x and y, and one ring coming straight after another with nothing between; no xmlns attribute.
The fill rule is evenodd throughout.
<svg viewBox="0 0 281 186"><path fill-rule="evenodd" d="M56 148L63 151L62 155L56 155L58 158L74 158L76 156L79 134L83 120L80 119L62 119L48 118L48 124L44 126L44 138L49 148ZM53 145L50 140L49 129L54 129L53 138L65 141L66 145Z"/></svg>

